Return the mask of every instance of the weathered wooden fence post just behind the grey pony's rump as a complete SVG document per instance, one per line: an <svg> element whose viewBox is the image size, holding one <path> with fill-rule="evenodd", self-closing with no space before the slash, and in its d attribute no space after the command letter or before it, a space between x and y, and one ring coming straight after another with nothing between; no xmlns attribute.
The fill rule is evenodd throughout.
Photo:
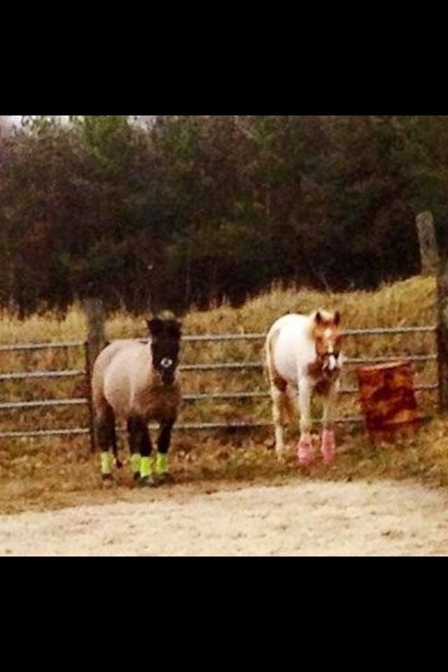
<svg viewBox="0 0 448 672"><path fill-rule="evenodd" d="M85 342L85 370L87 375L87 393L90 414L90 448L96 449L94 430L94 412L92 402L92 368L94 361L106 344L105 324L106 317L101 299L87 298L84 300L84 313L87 325L87 340Z"/></svg>

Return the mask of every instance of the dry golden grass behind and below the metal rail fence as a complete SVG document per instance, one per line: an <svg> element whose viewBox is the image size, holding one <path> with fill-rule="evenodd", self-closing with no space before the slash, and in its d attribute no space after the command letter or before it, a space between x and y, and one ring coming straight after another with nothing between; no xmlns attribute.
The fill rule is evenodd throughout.
<svg viewBox="0 0 448 672"><path fill-rule="evenodd" d="M339 309L346 328L414 326L434 324L436 293L433 279L412 278L384 286L375 292L343 294L318 293L306 289L271 292L248 301L241 309L228 306L207 312L191 311L184 320L184 331L192 334L266 332L269 325L290 311L310 312L316 308ZM109 339L141 337L144 319L117 314L106 327ZM85 321L79 307L73 307L62 321L51 314L34 316L20 322L3 313L0 319L0 343L45 342L85 338ZM347 337L348 356L426 355L435 351L432 334ZM262 359L262 342L186 343L184 363L256 361ZM83 369L83 349L0 353L0 372L22 370ZM437 371L434 363L416 365L416 382L432 383ZM186 393L220 391L266 391L262 372L202 374L184 373ZM353 370L347 368L345 384L355 383ZM85 395L83 378L66 381L1 382L1 400L38 400ZM437 395L419 393L422 407L435 411ZM358 414L356 398L343 397L339 414ZM235 421L270 419L269 400L209 401L186 403L181 421ZM3 431L51 429L66 426L87 426L87 409L3 411ZM448 482L448 458L444 444L444 420L436 419L421 430L418 444L397 445L385 449L370 446L362 431L339 430L343 444L339 464L330 472L313 472L319 477L407 477L426 475L437 482ZM448 433L447 433L448 434ZM294 428L290 430L293 440ZM293 453L286 464L278 465L272 455L270 430L252 433L176 433L174 438L174 470L178 479L257 479L288 477L297 468ZM123 478L125 476L123 475ZM1 440L0 441L0 507L9 510L14 502L25 498L40 502L59 502L66 492L92 491L100 485L98 470L88 452L87 437L63 440ZM9 494L8 494L9 493ZM31 493L31 495L30 495ZM34 493L34 494L33 494ZM57 494L59 493L59 494ZM34 498L34 499L33 499ZM64 498L62 498L64 500ZM3 501L3 504L1 504ZM65 501L65 500L64 500ZM13 502L13 503L11 503Z"/></svg>

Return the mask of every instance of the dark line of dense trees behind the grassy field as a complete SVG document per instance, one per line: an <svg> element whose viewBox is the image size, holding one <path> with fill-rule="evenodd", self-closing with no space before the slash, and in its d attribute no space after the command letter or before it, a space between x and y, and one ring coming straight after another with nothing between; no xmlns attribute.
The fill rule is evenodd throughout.
<svg viewBox="0 0 448 672"><path fill-rule="evenodd" d="M0 303L184 311L374 288L447 244L448 116L29 116L0 143Z"/></svg>

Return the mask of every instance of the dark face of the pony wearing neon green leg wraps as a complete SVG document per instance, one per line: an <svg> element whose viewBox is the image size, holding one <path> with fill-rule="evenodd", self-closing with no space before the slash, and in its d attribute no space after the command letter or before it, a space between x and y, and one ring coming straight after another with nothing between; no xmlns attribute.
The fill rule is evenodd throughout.
<svg viewBox="0 0 448 672"><path fill-rule="evenodd" d="M147 322L151 336L153 367L162 378L164 385L172 385L179 364L181 323L176 318L162 319L159 317Z"/></svg>

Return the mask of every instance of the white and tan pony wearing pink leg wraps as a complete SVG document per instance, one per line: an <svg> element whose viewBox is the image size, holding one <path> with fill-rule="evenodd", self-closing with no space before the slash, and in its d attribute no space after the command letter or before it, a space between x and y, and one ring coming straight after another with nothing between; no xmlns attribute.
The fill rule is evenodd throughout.
<svg viewBox="0 0 448 672"><path fill-rule="evenodd" d="M323 461L330 464L335 460L333 409L342 368L340 323L339 312L286 315L272 325L267 336L266 360L276 453L279 457L283 455L283 424L293 421L298 410L301 465L309 465L315 459L311 441L311 399L314 394L323 397Z"/></svg>

